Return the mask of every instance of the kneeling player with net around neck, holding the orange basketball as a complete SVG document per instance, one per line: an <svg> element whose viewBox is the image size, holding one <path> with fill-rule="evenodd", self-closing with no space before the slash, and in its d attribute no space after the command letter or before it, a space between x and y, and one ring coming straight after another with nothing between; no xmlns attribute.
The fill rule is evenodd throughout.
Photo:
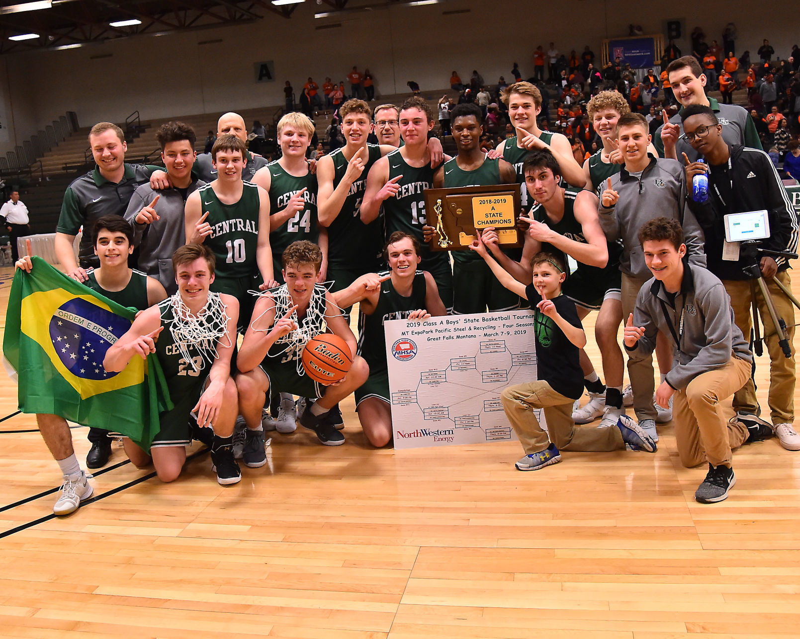
<svg viewBox="0 0 800 639"><path fill-rule="evenodd" d="M247 435L261 425L266 391L272 386L281 393L318 398L306 405L300 424L314 431L325 446L341 446L345 438L331 421L330 409L362 386L369 368L355 355L350 371L336 383L323 386L306 375L302 350L309 339L330 330L345 340L352 353L356 340L333 296L318 284L320 248L308 240L293 242L281 259L286 284L256 301L237 359L236 386Z"/></svg>

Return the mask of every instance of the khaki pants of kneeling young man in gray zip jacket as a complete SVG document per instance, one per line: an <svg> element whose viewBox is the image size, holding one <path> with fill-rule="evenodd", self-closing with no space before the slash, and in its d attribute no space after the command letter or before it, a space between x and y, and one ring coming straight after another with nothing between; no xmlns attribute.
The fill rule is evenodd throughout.
<svg viewBox="0 0 800 639"><path fill-rule="evenodd" d="M747 427L722 417L720 402L738 391L750 377L750 362L731 357L722 368L698 375L675 391L673 421L681 463L687 468L708 461L730 466L731 449L742 446Z"/></svg>

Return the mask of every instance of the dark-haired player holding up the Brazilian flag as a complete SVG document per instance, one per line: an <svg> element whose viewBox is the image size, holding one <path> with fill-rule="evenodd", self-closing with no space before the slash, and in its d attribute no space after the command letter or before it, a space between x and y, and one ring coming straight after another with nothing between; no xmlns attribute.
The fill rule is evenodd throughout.
<svg viewBox="0 0 800 639"><path fill-rule="evenodd" d="M133 231L122 217L103 216L94 224L94 253L100 268L86 269L86 285L102 296L138 310L157 304L166 297L166 292L157 280L128 268L128 256L133 251L130 239ZM16 268L29 272L33 268L30 260L30 240L26 240L28 256L17 260ZM53 506L55 514L70 514L78 509L82 500L91 497L93 488L86 481L72 446L72 431L61 415L36 415L39 431L50 453L61 467L64 475L61 494ZM94 428L92 447L86 456L86 466L105 466L111 454L108 431Z"/></svg>

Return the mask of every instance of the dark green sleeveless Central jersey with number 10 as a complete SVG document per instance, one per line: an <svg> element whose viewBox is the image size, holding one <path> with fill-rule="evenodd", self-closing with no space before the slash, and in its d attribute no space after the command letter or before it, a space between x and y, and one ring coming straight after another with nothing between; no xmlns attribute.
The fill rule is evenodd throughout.
<svg viewBox="0 0 800 639"><path fill-rule="evenodd" d="M235 204L222 204L211 185L198 189L202 212L211 235L206 246L217 258L217 277L243 277L258 272L255 251L258 246L258 186L242 182L242 197Z"/></svg>

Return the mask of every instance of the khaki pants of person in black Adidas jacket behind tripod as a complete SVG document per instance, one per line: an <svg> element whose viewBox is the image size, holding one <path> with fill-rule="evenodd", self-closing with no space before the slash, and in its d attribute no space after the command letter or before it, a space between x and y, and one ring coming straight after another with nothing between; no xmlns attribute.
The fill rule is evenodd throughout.
<svg viewBox="0 0 800 639"><path fill-rule="evenodd" d="M777 276L781 284L786 288L791 288L789 273L779 272ZM770 405L770 416L772 423L793 423L794 422L794 306L786 293L778 288L773 280L766 281L766 288L772 295L775 304L775 311L778 316L786 321L788 327L787 337L792 349L792 356L786 358L778 345L778 335L770 318L770 312L766 309L766 302L761 294L758 284L755 284L756 305L758 315L761 316L764 327L763 335L766 336L766 348L770 353L770 393L768 403ZM753 327L753 315L750 307L750 280L725 280L722 282L725 290L730 295L730 306L734 309L734 321L742 329L742 335L750 340L750 329ZM734 395L734 410L747 411L758 414L758 399L755 397L755 384L753 379L748 379L747 383Z"/></svg>

